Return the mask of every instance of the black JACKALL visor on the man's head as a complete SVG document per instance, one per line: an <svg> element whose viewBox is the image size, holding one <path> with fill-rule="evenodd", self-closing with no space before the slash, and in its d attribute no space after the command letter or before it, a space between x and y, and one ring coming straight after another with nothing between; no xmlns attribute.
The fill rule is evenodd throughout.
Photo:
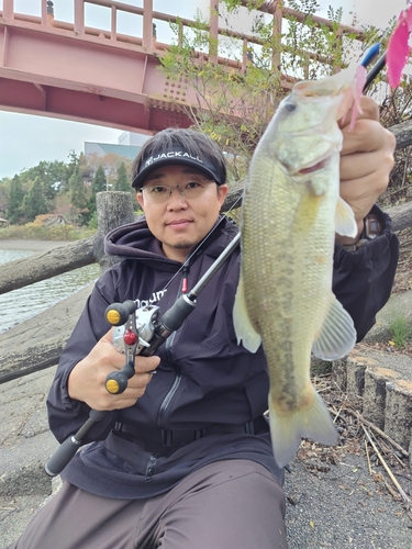
<svg viewBox="0 0 412 549"><path fill-rule="evenodd" d="M157 168L170 165L181 165L190 166L202 173L204 173L209 179L215 181L218 184L222 184L222 175L219 173L219 168L215 166L210 158L201 158L198 155L192 155L187 152L183 147L177 147L164 153L158 153L151 155L142 160L138 173L133 179L132 187L135 189L141 189L147 177Z"/></svg>

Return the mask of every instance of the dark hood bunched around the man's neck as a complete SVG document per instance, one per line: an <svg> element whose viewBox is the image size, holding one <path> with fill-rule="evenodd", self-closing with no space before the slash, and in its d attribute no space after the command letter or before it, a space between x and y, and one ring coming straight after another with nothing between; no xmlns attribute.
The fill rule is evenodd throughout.
<svg viewBox="0 0 412 549"><path fill-rule="evenodd" d="M218 243L218 238L224 233L226 238L219 239ZM218 257L236 233L236 226L227 217L220 216L215 228L196 250L190 262L202 253ZM169 272L176 272L181 267L181 262L164 255L162 244L151 233L144 215L134 223L111 231L104 238L104 251L111 256L138 259L156 269Z"/></svg>

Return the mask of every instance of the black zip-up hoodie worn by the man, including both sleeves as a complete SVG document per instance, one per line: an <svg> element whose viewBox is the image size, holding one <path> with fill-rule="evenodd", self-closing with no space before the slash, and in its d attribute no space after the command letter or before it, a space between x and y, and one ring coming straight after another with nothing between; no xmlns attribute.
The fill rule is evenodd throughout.
<svg viewBox="0 0 412 549"><path fill-rule="evenodd" d="M398 259L390 221L379 214L385 221L382 236L355 254L339 246L335 250L334 291L354 317L359 338L389 298ZM230 221L221 220L183 271L179 270L181 264L163 255L144 219L108 235L107 253L125 259L98 280L62 355L47 401L49 425L60 442L88 418L90 408L69 399L67 379L110 328L104 320L107 306L138 300L140 306L155 303L164 313L181 293L182 279L190 290L236 232ZM107 413L92 427L85 442L94 442L65 468L65 479L107 497L140 498L169 490L212 461L252 459L282 481L261 422L269 390L265 356L261 348L250 354L238 346L234 333L238 271L240 249L200 293L181 328L157 351L162 360L145 394L134 406ZM143 435L124 435L120 424ZM165 436L181 432L192 433L193 441L170 447L162 444Z"/></svg>

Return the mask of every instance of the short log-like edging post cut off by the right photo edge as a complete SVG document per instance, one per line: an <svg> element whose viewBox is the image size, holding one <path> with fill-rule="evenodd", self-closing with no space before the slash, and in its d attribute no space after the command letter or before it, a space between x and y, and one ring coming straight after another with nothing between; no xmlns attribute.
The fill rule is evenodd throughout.
<svg viewBox="0 0 412 549"><path fill-rule="evenodd" d="M385 433L402 448L412 440L412 382L394 380L387 383Z"/></svg>

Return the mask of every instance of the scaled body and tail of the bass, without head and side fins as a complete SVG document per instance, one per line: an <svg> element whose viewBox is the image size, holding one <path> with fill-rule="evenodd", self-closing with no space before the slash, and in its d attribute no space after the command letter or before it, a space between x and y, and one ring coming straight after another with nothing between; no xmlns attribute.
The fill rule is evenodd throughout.
<svg viewBox="0 0 412 549"><path fill-rule="evenodd" d="M268 173L255 178L265 181ZM245 197L242 276L268 363L275 458L285 466L301 437L336 440L310 381L311 348L332 295L335 197L314 197L276 166L271 179L276 192L256 182Z"/></svg>

